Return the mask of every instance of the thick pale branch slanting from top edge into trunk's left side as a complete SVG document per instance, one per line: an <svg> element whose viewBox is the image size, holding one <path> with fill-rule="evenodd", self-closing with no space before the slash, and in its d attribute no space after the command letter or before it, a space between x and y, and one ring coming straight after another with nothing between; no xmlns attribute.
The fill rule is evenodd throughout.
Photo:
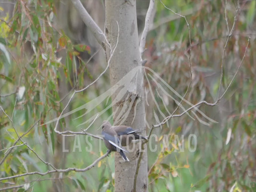
<svg viewBox="0 0 256 192"><path fill-rule="evenodd" d="M109 45L109 43L102 30L99 28L98 24L96 24L92 17L89 15L89 13L86 11L85 7L83 6L80 0L72 0L72 3L78 11L78 13L80 14L80 17L83 20L83 22L93 33L100 46L106 51L106 45Z"/></svg>

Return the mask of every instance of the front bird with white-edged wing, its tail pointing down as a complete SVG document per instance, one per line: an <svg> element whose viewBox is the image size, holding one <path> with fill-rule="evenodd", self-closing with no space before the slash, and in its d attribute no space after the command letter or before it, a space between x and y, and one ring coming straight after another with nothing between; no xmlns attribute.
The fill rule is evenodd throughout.
<svg viewBox="0 0 256 192"><path fill-rule="evenodd" d="M109 121L107 120L103 121L101 134L104 136L103 138L104 143L110 151L118 151L122 156L123 160L129 161L129 159L123 153L127 151L121 147L118 135L112 128Z"/></svg>

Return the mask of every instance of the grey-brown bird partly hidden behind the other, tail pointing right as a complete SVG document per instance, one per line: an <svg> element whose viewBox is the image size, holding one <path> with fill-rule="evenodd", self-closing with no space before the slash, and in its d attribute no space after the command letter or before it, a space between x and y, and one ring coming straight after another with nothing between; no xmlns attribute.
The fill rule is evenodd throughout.
<svg viewBox="0 0 256 192"><path fill-rule="evenodd" d="M138 130L134 130L133 128L125 125L113 126L113 129L118 134L122 146L129 145L134 139L148 140L146 137L138 135Z"/></svg>

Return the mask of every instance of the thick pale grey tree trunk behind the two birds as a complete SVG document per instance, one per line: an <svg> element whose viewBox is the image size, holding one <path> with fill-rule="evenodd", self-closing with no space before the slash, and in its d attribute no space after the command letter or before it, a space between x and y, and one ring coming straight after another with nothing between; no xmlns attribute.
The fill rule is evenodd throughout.
<svg viewBox="0 0 256 192"><path fill-rule="evenodd" d="M141 56L139 52L139 39L136 18L135 0L106 0L106 28L105 32L108 42L114 48L117 40L117 48L110 60L110 83L111 86L118 83L122 77L131 70L136 75L131 74L127 93L119 102L112 106L114 124L131 126L134 129L143 129L145 135L145 105L144 105L144 88L143 88L143 71L140 67ZM119 32L118 32L119 26ZM119 35L119 38L118 38ZM107 49L108 50L108 49ZM107 52L107 59L110 59L110 51ZM137 69L137 70L136 70ZM127 84L127 82L124 82ZM118 84L120 89L113 93L112 101L119 94L123 83ZM114 103L114 102L113 102ZM127 106L130 106L127 107ZM120 117L125 109L125 115ZM115 191L132 192L134 188L134 174L139 156L140 143L136 144L135 150L127 154L129 162L123 162L121 156L115 155ZM136 180L136 190L147 191L147 152L146 144L142 152L142 159L139 164L138 175Z"/></svg>

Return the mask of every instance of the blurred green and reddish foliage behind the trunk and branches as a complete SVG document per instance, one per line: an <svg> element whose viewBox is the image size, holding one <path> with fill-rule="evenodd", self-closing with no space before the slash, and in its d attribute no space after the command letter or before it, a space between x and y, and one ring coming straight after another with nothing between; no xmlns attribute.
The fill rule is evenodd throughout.
<svg viewBox="0 0 256 192"><path fill-rule="evenodd" d="M148 150L149 191L256 191L256 1L163 0L163 3L186 16L189 23L192 84L185 99L193 104L201 100L213 103L218 97L220 65L235 16L235 4L240 10L234 34L225 49L221 93L244 57L249 36L251 40L242 67L219 105L198 107L218 121L217 124L207 126L183 115L154 130L157 137L149 144L157 144L157 151ZM104 2L86 0L83 4L103 29ZM148 1L137 0L139 32L143 30L147 6ZM190 80L188 26L158 0L143 56L146 67L184 95ZM16 142L18 137L13 126L24 142L57 168L84 168L106 152L100 140L79 135L65 137L63 143L63 138L53 131L54 123L40 126L58 117L70 93L90 84L105 67L103 51L70 1L1 1L0 106L13 122L12 125L0 111L1 178L50 169L24 145L5 149L22 144ZM149 86L157 90L152 80L145 79L146 93ZM84 105L109 88L107 72L89 89L76 94L67 110ZM177 107L157 92L154 96L165 115L168 112L161 105L163 100L170 111ZM147 99L150 104L146 105L147 122L156 124L161 114L156 105L151 105L153 98ZM85 129L88 125L83 124L85 120L102 111L108 103L106 100L99 104L82 118L75 119L85 110L61 119L58 129ZM177 111L180 112L182 110ZM99 134L102 120L110 115L111 109L88 131ZM168 137L163 137L164 134ZM189 138L190 134L195 135L196 141ZM189 144L196 148L195 152L189 151ZM63 149L69 152L63 153ZM113 154L100 161L96 168L82 173L31 175L0 181L0 188L19 185L14 190L113 191Z"/></svg>

